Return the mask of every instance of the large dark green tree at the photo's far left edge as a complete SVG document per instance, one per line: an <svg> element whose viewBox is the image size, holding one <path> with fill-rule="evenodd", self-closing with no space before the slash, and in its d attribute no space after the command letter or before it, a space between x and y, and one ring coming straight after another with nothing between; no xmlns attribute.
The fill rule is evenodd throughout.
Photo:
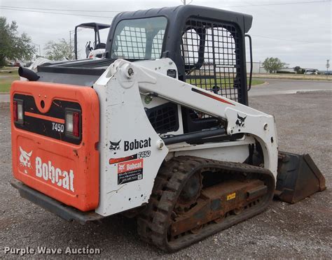
<svg viewBox="0 0 332 260"><path fill-rule="evenodd" d="M36 48L27 34L18 34L15 21L8 24L6 17L0 17L0 67L8 60L32 59Z"/></svg>

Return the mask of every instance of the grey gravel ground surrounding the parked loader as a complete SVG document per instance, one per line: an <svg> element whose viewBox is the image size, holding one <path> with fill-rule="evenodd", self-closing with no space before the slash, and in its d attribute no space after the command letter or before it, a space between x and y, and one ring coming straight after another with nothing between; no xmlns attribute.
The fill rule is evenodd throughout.
<svg viewBox="0 0 332 260"><path fill-rule="evenodd" d="M331 187L331 92L256 96L251 106L275 115L280 150L311 154ZM289 205L274 201L268 210L174 254L139 240L134 219L113 216L101 223L68 223L20 198L11 180L11 133L8 108L0 108L0 258L4 247L36 249L100 248L113 259L331 259L331 189ZM27 255L26 257L77 257Z"/></svg>

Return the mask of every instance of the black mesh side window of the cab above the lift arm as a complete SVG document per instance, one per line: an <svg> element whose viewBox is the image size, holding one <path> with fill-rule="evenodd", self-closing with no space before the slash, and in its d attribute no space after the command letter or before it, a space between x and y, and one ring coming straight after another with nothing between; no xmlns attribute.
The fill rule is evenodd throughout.
<svg viewBox="0 0 332 260"><path fill-rule="evenodd" d="M240 32L228 23L188 20L181 55L185 80L228 99L241 99Z"/></svg>

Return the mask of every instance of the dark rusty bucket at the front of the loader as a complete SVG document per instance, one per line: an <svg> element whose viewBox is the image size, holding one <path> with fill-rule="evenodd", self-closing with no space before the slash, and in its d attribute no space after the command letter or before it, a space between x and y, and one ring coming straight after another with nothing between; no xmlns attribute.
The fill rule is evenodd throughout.
<svg viewBox="0 0 332 260"><path fill-rule="evenodd" d="M275 197L296 203L326 189L325 178L309 154L279 152Z"/></svg>

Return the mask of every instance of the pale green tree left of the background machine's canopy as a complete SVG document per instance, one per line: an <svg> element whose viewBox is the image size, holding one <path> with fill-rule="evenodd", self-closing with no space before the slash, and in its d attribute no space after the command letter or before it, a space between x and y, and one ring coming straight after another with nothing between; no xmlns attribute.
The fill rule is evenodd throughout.
<svg viewBox="0 0 332 260"><path fill-rule="evenodd" d="M60 41L48 41L44 48L47 59L51 60L63 60L73 59L74 46L70 45L64 38Z"/></svg>

